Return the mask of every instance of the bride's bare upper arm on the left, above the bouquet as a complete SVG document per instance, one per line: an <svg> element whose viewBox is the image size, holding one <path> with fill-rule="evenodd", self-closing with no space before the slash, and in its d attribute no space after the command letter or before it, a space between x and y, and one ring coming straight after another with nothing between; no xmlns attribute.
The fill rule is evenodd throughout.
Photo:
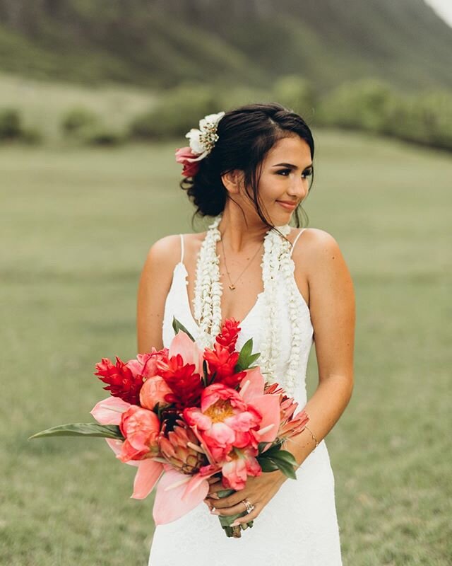
<svg viewBox="0 0 452 566"><path fill-rule="evenodd" d="M180 257L179 235L165 236L151 246L138 284L136 334L138 354L163 347L162 323L174 265Z"/></svg>

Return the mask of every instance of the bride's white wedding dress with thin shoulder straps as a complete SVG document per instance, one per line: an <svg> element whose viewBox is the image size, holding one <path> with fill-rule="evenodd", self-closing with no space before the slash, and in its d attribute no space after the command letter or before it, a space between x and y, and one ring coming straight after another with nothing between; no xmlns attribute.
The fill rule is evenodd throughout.
<svg viewBox="0 0 452 566"><path fill-rule="evenodd" d="M295 243L302 231L299 232ZM198 325L191 314L186 291L184 240L182 257L174 267L171 288L165 303L163 344L169 346L174 337L172 318L175 316L195 337ZM299 245L302 245L302 240ZM292 248L293 249L293 248ZM277 374L284 376L290 354L290 318L288 315L285 280L278 282L278 315L280 316L281 357ZM237 340L239 350L253 338L253 350L259 351L261 330L270 323L263 320L259 294L251 311L241 321ZM309 351L313 343L313 328L309 308L298 294L299 323L302 329L302 350L299 362L299 382L295 399L299 408L307 402L305 376ZM278 380L284 386L284 379ZM309 434L309 433L307 433ZM149 566L340 566L340 538L335 509L334 478L325 441L297 470L297 480L287 479L273 499L254 521L252 529L242 531L242 538L227 538L218 516L209 513L201 503L181 519L157 526L150 549Z"/></svg>

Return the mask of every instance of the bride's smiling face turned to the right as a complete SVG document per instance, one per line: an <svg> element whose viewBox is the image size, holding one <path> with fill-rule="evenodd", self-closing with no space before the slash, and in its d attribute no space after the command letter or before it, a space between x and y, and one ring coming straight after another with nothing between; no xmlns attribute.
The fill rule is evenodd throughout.
<svg viewBox="0 0 452 566"><path fill-rule="evenodd" d="M297 205L307 197L311 175L311 151L299 136L280 139L268 151L258 195L261 209L274 226L290 221Z"/></svg>

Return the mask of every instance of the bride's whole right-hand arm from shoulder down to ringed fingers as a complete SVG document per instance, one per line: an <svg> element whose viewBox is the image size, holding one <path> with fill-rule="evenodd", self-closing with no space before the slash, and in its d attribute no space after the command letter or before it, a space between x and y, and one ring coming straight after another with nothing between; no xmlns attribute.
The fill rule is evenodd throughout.
<svg viewBox="0 0 452 566"><path fill-rule="evenodd" d="M350 273L335 239L317 229L309 229L299 239L303 245L295 246L292 256L295 279L300 290L309 289L319 366L319 386L304 409L310 417L308 427L320 442L338 421L352 394L355 296ZM291 439L285 449L301 464L314 447L315 442L305 429ZM212 480L206 503L218 509L215 514L233 515L243 512L240 502L249 499L255 504L254 511L236 521L236 524L246 523L256 519L285 480L287 477L279 470L263 473L248 478L244 490L220 500L215 499L215 492L222 489L222 485Z"/></svg>

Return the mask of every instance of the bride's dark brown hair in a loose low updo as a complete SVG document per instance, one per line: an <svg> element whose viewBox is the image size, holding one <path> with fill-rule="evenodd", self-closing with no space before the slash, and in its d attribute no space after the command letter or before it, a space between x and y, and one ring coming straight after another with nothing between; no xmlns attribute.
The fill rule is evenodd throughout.
<svg viewBox="0 0 452 566"><path fill-rule="evenodd" d="M278 140L293 135L307 142L314 158L314 139L309 126L296 112L278 103L254 103L225 112L218 122L217 134L218 140L210 154L200 161L198 173L180 182L180 187L196 206L192 221L196 215L216 216L225 209L228 195L221 175L238 169L244 172L246 193L254 202L256 212L267 226L273 227L258 202L261 165ZM313 180L314 168L309 190ZM297 227L300 226L300 209L306 223L308 221L299 204L295 209Z"/></svg>

